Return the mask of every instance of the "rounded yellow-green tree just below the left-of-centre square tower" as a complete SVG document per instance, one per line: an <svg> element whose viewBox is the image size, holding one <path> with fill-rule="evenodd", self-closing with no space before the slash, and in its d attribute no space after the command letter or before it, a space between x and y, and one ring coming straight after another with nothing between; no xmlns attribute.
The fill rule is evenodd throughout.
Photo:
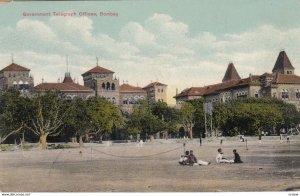
<svg viewBox="0 0 300 196"><path fill-rule="evenodd" d="M106 133L112 133L112 128L122 128L125 118L119 108L104 98L93 97L87 101L87 114L93 133L99 135L99 141Z"/></svg>

